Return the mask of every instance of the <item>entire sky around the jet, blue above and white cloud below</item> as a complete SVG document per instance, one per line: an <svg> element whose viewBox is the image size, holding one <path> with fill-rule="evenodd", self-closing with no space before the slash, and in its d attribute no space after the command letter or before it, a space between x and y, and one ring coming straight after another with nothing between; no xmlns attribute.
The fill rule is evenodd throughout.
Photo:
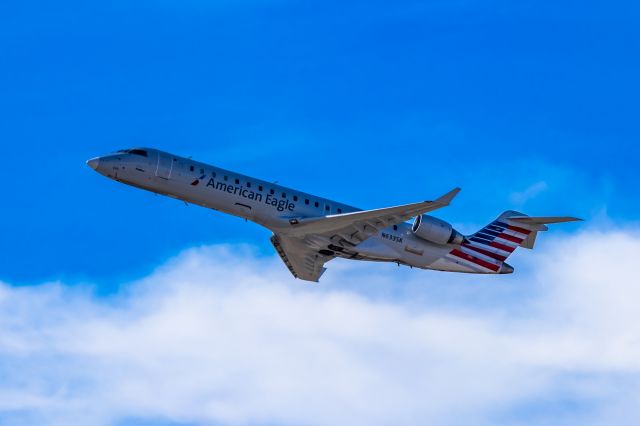
<svg viewBox="0 0 640 426"><path fill-rule="evenodd" d="M639 19L0 3L0 423L638 424ZM499 282L336 261L298 286L268 231L85 165L132 146L362 208L460 186L437 215L466 232L507 209L587 223Z"/></svg>

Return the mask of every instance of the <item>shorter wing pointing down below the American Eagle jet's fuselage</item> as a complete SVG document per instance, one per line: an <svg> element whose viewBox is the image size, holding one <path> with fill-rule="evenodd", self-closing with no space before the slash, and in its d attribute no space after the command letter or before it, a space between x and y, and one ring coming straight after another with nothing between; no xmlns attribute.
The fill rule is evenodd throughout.
<svg viewBox="0 0 640 426"><path fill-rule="evenodd" d="M302 238L273 234L271 244L293 276L305 281L318 282L326 271L324 264L336 257L320 253Z"/></svg>

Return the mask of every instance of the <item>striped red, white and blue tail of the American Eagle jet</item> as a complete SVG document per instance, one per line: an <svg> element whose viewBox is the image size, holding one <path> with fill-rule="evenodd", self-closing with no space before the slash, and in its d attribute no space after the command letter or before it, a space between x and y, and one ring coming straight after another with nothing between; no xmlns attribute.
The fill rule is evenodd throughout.
<svg viewBox="0 0 640 426"><path fill-rule="evenodd" d="M507 258L518 247L532 249L538 232L546 231L552 223L575 222L575 217L530 217L513 210L502 213L498 219L473 235L465 237L459 248L450 255L478 273L510 274L513 267Z"/></svg>

